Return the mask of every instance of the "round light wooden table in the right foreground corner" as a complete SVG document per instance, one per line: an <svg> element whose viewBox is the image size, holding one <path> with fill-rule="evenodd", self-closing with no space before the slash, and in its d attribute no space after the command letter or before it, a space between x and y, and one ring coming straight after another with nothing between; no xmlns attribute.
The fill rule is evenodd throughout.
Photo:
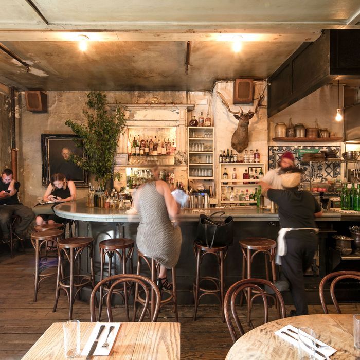
<svg viewBox="0 0 360 360"><path fill-rule="evenodd" d="M297 360L297 348L274 334L289 324L297 328L305 326L314 329L319 340L337 350L330 356L331 360L360 358L360 350L354 348L353 315L318 314L287 317L261 325L241 336L231 347L226 360Z"/></svg>

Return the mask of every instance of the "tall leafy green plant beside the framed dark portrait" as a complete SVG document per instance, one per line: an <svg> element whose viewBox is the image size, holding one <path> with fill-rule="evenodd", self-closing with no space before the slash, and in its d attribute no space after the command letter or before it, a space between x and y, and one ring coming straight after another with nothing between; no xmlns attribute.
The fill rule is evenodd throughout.
<svg viewBox="0 0 360 360"><path fill-rule="evenodd" d="M83 114L87 117L87 125L73 120L65 121L83 139L84 157L72 154L71 160L104 184L114 176L116 147L120 134L124 132L126 120L120 107L116 107L113 114L107 112L106 95L101 92L88 93L86 105L89 110L84 110ZM81 146L80 143L77 145Z"/></svg>

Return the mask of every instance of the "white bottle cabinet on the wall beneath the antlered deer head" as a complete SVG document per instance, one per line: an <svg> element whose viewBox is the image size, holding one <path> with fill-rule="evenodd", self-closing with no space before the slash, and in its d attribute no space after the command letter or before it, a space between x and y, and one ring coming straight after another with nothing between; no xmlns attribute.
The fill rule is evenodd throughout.
<svg viewBox="0 0 360 360"><path fill-rule="evenodd" d="M227 179L223 178L223 174L227 172ZM232 174L236 173L236 179L232 179ZM255 194L256 188L260 181L260 170L264 172L265 165L263 163L220 163L219 164L219 183L220 183L220 203L233 206L256 206L256 200L240 200L241 192L246 196L246 190L250 195ZM244 172L253 173L254 178L243 179ZM261 176L261 174L260 174ZM233 193L231 194L231 188ZM231 199L231 200L230 200Z"/></svg>

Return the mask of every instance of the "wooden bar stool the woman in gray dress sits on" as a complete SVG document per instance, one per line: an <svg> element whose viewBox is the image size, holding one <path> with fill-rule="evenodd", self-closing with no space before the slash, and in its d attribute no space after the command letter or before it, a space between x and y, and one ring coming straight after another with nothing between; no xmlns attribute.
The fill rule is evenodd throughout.
<svg viewBox="0 0 360 360"><path fill-rule="evenodd" d="M141 262L142 260L145 261L146 265L148 266L150 273L151 273L151 280L153 282L156 283L156 279L157 279L157 269L159 268L160 264L155 261L154 259L148 257L146 254L141 253L141 251L138 249L137 250L137 270L136 270L136 274L137 275L141 275L140 274L140 268L141 268ZM161 307L163 307L164 305L168 304L168 303L172 303L173 304L173 313L175 315L175 321L178 322L178 315L177 315L177 294L176 294L176 271L175 271L175 267L171 268L171 276L172 276L172 289L171 290L167 290L167 289L162 289L161 293L167 293L169 296L166 299L161 299L160 301L160 309ZM155 302L152 301L152 299L154 299L155 297L155 292L152 289L151 290L151 317L153 317L154 312L155 312ZM142 305L145 304L145 299L143 299L139 292L138 292L138 284L135 285L135 295L134 295L134 315L133 315L133 321L135 321L135 317L136 317L136 303L139 302Z"/></svg>

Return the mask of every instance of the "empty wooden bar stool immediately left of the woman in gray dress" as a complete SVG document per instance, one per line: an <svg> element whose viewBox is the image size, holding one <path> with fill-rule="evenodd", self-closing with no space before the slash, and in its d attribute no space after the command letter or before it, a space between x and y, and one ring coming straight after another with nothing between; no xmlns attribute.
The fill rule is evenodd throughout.
<svg viewBox="0 0 360 360"><path fill-rule="evenodd" d="M107 266L107 277L112 276L113 263L114 263L114 275L120 274L120 272L116 272L116 255L119 257L119 263L122 263L122 274L132 274L133 273L133 253L134 253L134 240L132 239L109 239L103 240L99 243L100 250L100 281L104 279L104 265L105 265L105 257L107 255L108 266ZM121 252L120 252L121 251ZM114 260L114 261L113 261ZM130 263L130 272L127 271L127 263ZM105 291L105 294L103 294ZM102 302L107 292L109 291L109 287L101 286L100 287L100 301L99 301L99 318L101 318L101 310L102 310ZM123 283L123 294L120 290L114 290L113 293L118 294L123 297L126 314L128 320L129 317L129 307L128 307L128 290L127 283Z"/></svg>

